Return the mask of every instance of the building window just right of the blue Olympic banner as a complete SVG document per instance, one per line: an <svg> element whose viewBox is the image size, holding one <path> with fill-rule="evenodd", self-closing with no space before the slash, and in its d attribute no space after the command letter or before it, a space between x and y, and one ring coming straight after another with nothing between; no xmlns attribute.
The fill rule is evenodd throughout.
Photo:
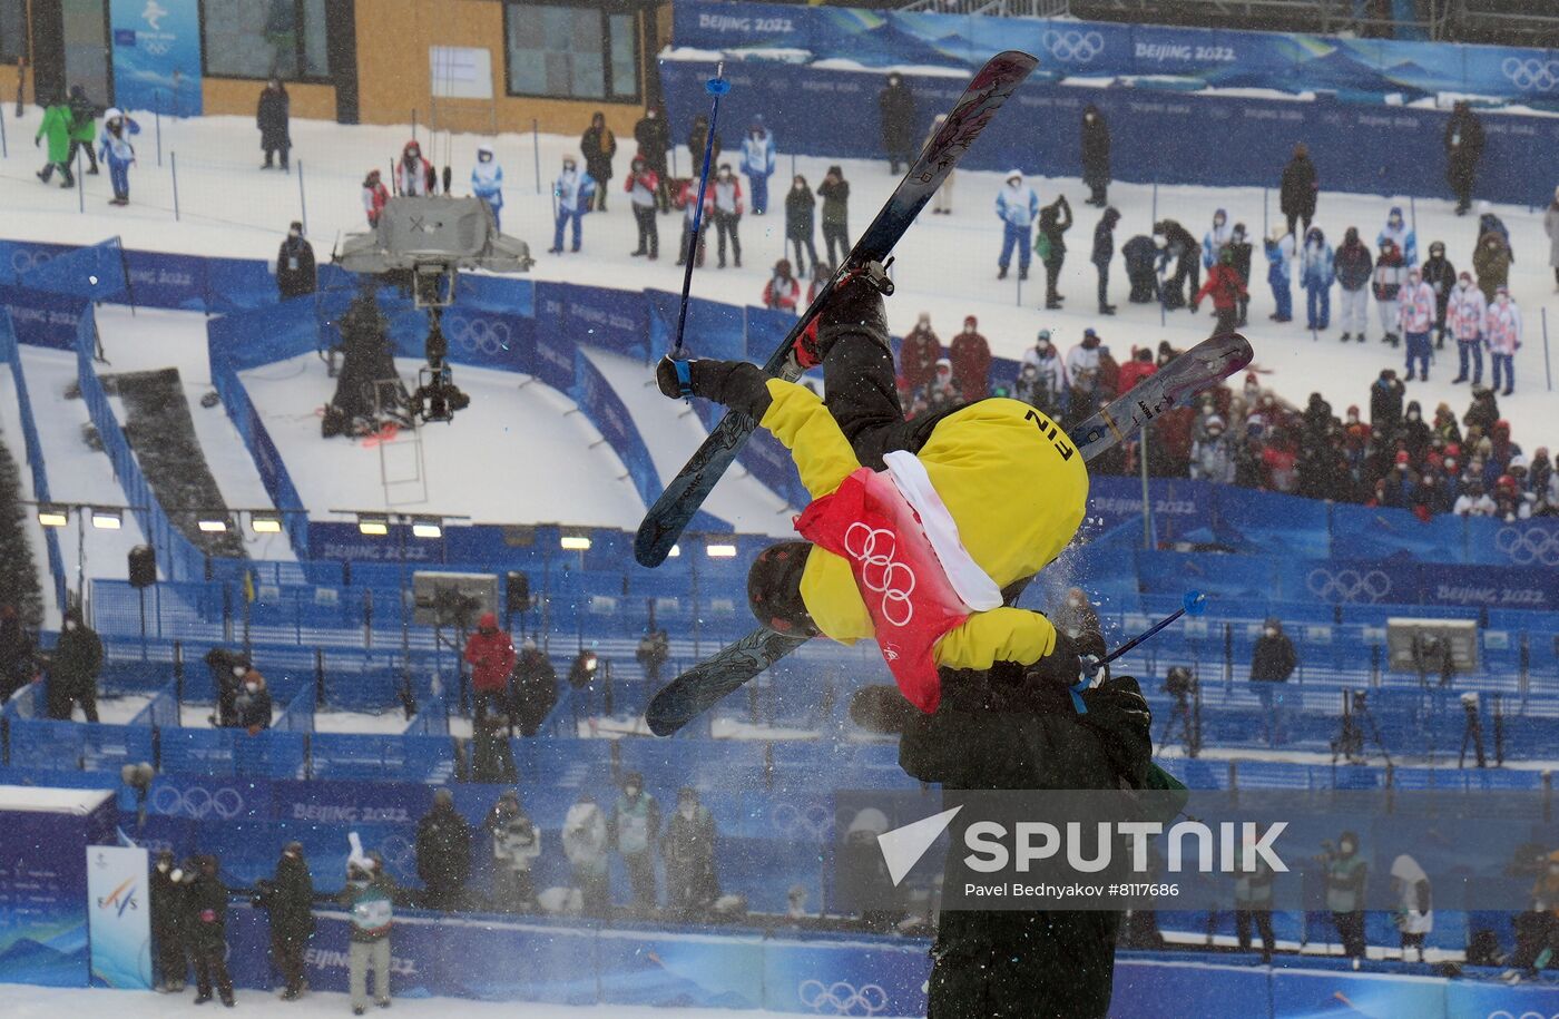
<svg viewBox="0 0 1559 1019"><path fill-rule="evenodd" d="M331 76L324 0L201 0L200 22L207 76Z"/></svg>

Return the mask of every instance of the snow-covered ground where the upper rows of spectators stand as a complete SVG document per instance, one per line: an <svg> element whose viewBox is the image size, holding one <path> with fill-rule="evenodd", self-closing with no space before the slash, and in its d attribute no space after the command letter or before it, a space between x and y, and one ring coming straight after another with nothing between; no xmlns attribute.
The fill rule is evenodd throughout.
<svg viewBox="0 0 1559 1019"><path fill-rule="evenodd" d="M17 142L37 126L37 111L28 109L22 123L11 122L11 154L0 160L0 227L8 237L51 242L98 242L109 235L123 237L131 248L161 251L200 251L206 254L271 257L281 242L287 223L298 218L302 209L299 190L307 203L309 232L324 256L338 234L363 229L359 206L359 184L371 165L385 162L399 151L410 136L408 126L341 126L326 122L293 122L295 171L292 176L276 171L260 171L257 159L242 159L240 154L256 151L254 125L246 117L207 117L201 120L162 123L162 167L157 167L151 125L140 136L140 164L133 170L133 204L126 209L106 206L109 196L108 178L86 178L86 213L78 212L78 195L58 187L45 187L33 178L39 157L30 145ZM583 125L582 125L583 128ZM998 122L995 129L1001 129ZM424 148L426 128L419 128ZM446 162L452 156L455 181L463 182L474 159L475 145L485 139L457 136L452 142L440 136L437 159ZM780 139L780 173L773 181L783 193L792 170L792 157ZM658 287L675 290L681 271L675 268L677 215L659 218L663 257L647 263L630 259L635 245L633 220L628 215L625 196L620 193L622 171L627 153L619 157L619 173L613 181L611 210L592 213L585 220L585 251L578 256L547 256L550 246L550 196L546 184L538 189L535 160L539 151L543 182L555 176L561 156L577 150L577 139L564 136L502 134L491 143L507 173L507 206L504 223L508 232L530 242L538 262L536 279L569 280L602 287ZM171 159L179 153L179 207L182 221L173 221ZM257 154L257 153L256 153ZM794 167L814 185L831 164L840 164L851 181L851 226L861 231L876 212L879 203L896 182L887 167L868 160L837 160L797 157ZM686 173L691 165L686 150L678 153L678 165ZM301 170L299 170L301 167ZM1327 168L1320 167L1322 181ZM299 176L302 189L299 189ZM1099 319L1093 309L1094 271L1088 263L1088 246L1098 213L1082 204L1085 196L1076 179L1035 179L1041 201L1054 198L1057 190L1074 199L1079 220L1069 235L1071 252L1062 273L1060 290L1069 298L1065 312L1041 312L1041 276L1035 265L1034 276L1020 285L1016 273L1007 280L996 280L996 254L1001 245L1001 226L993 212L993 201L1001 181L996 173L962 171L956 179L956 209L951 217L923 215L898 246L895 277L898 294L889 301L889 321L895 330L907 330L915 315L926 310L943 340L949 340L965 315L979 316L979 327L998 354L1018 355L1034 341L1038 329L1054 330L1063 349L1073 346L1088 326L1094 326L1112 344L1118 358L1129 354L1133 343L1169 340L1177 346L1190 344L1207 335L1211 318L1177 312L1168 324L1160 324L1160 312L1154 305L1129 305L1126 274L1116 260L1112 290L1119 304L1119 315ZM1275 171L1274 171L1275 184ZM1247 224L1260 235L1277 218L1277 195L1263 189L1214 189L1214 187L1161 187L1116 184L1110 198L1122 213L1116 231L1116 243L1124 243L1135 234L1149 232L1152 218L1175 217L1194 234L1200 235L1214 209L1228 209L1233 221ZM1347 226L1373 240L1392 204L1400 204L1416 221L1419 251L1426 252L1431 240L1444 240L1451 262L1469 268L1475 242L1476 218L1458 218L1448 199L1406 198L1389 199L1373 195L1341 195L1322 192L1319 226L1333 240L1341 238ZM1511 290L1520 302L1526 323L1526 346L1517 354L1515 396L1501 399L1500 407L1514 424L1517 439L1532 446L1559 443L1559 400L1543 388L1543 343L1540 312L1547 307L1559 312L1559 299L1553 290L1553 273L1548 266L1548 240L1542 231L1542 210L1495 206L1512 232L1515 266L1511 274ZM784 256L784 217L772 212L767 217L748 215L742 220L745 246L742 270L714 270L712 262L694 274L692 291L702 298L728 302L756 302L773 260ZM1303 404L1311 391L1322 393L1341 413L1350 404L1364 404L1369 382L1381 368L1402 366L1402 352L1391 351L1378 341L1342 346L1336 341L1338 330L1313 340L1300 321L1277 326L1267 321L1274 310L1271 293L1264 284L1266 265L1257 252L1253 266L1253 301L1250 307L1249 335L1257 349L1258 365L1272 374L1266 380L1291 402ZM1336 296L1336 294L1333 294ZM1302 301L1303 293L1296 293ZM1333 302L1336 304L1336 302ZM1335 309L1336 310L1336 309ZM1372 335L1380 333L1372 315ZM1333 315L1333 319L1336 316ZM1554 351L1553 355L1559 355ZM1448 400L1458 411L1469 402L1465 386L1451 386L1455 354L1447 360L1441 352L1433 371L1433 382L1412 383L1409 399L1417 399L1433 411L1434 404ZM655 435L649 436L656 443ZM730 485L730 483L728 483ZM446 506L440 506L441 510ZM451 508L452 510L452 508ZM582 510L585 510L582 506ZM610 516L610 514L606 514ZM585 520L580 520L585 522Z"/></svg>

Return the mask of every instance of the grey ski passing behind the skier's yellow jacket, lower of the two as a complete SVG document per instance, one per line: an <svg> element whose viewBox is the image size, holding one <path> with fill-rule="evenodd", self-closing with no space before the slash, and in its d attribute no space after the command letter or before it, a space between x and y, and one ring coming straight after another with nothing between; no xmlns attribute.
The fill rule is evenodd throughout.
<svg viewBox="0 0 1559 1019"><path fill-rule="evenodd" d="M1239 333L1204 340L1068 430L1068 436L1082 458L1090 461L1130 439L1152 418L1188 404L1202 390L1241 371L1253 358L1250 343ZM644 712L650 732L672 735L806 642L808 637L758 626L656 693Z"/></svg>

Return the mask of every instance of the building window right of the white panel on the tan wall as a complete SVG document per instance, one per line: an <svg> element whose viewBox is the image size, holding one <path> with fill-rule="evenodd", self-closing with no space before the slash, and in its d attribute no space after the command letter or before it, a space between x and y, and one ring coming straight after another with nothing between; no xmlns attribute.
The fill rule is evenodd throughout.
<svg viewBox="0 0 1559 1019"><path fill-rule="evenodd" d="M510 95L624 103L641 95L633 14L608 14L599 2L505 3L504 39Z"/></svg>

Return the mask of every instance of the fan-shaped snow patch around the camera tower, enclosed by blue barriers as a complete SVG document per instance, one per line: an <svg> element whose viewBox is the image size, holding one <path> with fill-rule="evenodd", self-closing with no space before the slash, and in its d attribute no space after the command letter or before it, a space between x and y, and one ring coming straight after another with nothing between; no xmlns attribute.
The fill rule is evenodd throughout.
<svg viewBox="0 0 1559 1019"><path fill-rule="evenodd" d="M402 377L418 363L398 361ZM415 513L465 516L474 524L580 524L636 528L644 500L624 477L622 461L577 413L574 400L504 371L461 368L471 407L451 424L421 428L421 485L396 485L388 499ZM243 372L254 405L287 471L315 514L388 506L376 439L321 439L318 408L335 391L313 354ZM387 444L391 478L412 477L415 446L402 433Z"/></svg>

